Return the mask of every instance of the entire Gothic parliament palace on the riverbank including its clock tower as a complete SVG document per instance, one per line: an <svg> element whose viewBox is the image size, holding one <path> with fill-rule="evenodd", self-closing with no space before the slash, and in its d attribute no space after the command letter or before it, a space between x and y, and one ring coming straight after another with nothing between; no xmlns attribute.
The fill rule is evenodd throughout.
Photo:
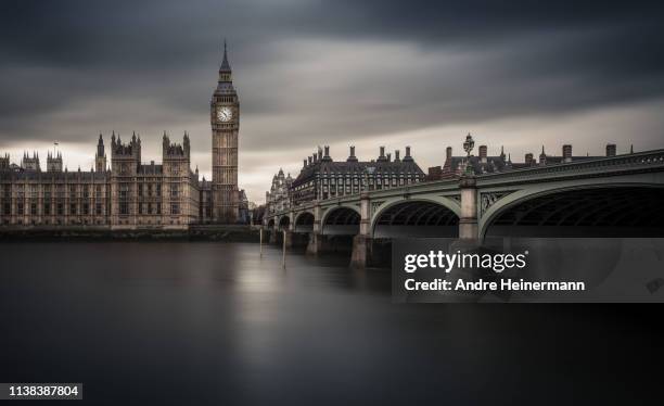
<svg viewBox="0 0 664 406"><path fill-rule="evenodd" d="M195 224L245 220L246 198L238 188L240 103L226 43L210 101L212 180L192 172L190 139L162 142L162 163L141 161L141 138L99 136L94 167L63 169L61 153L49 153L46 170L37 153L21 164L0 156L0 227L94 227L188 229ZM111 155L108 166L107 155Z"/></svg>

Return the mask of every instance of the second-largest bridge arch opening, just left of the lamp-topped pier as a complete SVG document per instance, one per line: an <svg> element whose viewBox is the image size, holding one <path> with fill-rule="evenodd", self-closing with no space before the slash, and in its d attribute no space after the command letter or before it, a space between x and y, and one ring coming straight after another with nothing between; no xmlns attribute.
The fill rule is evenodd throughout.
<svg viewBox="0 0 664 406"><path fill-rule="evenodd" d="M449 199L399 199L384 203L371 218L374 238L458 237L460 206Z"/></svg>

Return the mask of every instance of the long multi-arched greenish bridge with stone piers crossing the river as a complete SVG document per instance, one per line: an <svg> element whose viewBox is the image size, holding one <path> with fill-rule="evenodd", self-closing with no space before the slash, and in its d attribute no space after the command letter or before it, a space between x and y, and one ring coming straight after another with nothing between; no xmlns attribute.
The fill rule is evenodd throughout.
<svg viewBox="0 0 664 406"><path fill-rule="evenodd" d="M361 267L392 238L662 237L663 202L664 150L654 150L312 201L264 227L289 246L304 237L312 254L353 238Z"/></svg>

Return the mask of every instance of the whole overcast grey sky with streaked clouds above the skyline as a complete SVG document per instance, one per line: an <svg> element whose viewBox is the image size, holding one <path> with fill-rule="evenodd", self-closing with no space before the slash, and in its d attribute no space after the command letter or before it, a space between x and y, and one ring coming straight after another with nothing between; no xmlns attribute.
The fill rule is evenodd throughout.
<svg viewBox="0 0 664 406"><path fill-rule="evenodd" d="M505 4L500 4L505 3ZM222 39L241 103L240 187L263 202L280 168L331 145L345 160L411 145L420 166L467 132L526 152L664 147L664 18L656 2L238 0L0 1L0 153L69 169L97 138L192 139L209 178L209 100ZM403 153L403 152L401 152Z"/></svg>

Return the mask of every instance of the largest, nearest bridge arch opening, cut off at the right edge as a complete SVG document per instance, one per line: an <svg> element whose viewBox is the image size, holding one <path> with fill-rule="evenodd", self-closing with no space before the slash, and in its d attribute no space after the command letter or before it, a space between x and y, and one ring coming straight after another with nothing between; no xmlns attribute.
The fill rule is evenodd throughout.
<svg viewBox="0 0 664 406"><path fill-rule="evenodd" d="M480 220L480 237L664 236L664 186L597 182L523 189L499 199Z"/></svg>

